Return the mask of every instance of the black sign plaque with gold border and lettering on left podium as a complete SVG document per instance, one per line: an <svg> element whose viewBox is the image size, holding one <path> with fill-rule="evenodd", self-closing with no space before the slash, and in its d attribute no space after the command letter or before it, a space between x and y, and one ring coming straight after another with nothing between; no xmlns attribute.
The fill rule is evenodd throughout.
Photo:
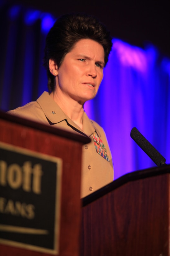
<svg viewBox="0 0 170 256"><path fill-rule="evenodd" d="M62 160L0 142L0 243L59 253Z"/></svg>

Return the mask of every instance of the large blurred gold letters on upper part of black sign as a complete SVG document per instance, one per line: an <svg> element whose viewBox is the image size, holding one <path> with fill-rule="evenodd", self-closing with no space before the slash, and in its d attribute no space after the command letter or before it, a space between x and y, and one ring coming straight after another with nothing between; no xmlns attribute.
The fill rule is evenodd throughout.
<svg viewBox="0 0 170 256"><path fill-rule="evenodd" d="M7 186L12 189L19 189L21 186L26 192L41 194L41 177L43 175L42 166L35 164L32 168L30 161L24 162L21 167L18 164L0 161L0 185Z"/></svg>

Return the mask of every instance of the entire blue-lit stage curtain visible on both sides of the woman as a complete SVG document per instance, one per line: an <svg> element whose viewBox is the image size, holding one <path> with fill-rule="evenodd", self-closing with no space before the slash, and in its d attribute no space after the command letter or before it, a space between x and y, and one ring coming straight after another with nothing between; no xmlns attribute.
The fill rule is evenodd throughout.
<svg viewBox="0 0 170 256"><path fill-rule="evenodd" d="M1 7L0 15L0 107L7 111L47 91L42 60L54 18L7 5ZM131 139L134 126L170 163L170 59L153 45L141 49L113 39L99 92L85 103L85 111L106 132L115 179L155 166Z"/></svg>

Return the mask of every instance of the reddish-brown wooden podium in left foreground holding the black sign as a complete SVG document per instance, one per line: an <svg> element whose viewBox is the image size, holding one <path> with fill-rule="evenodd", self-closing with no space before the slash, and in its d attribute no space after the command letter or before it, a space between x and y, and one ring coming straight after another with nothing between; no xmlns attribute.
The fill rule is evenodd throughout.
<svg viewBox="0 0 170 256"><path fill-rule="evenodd" d="M39 216L37 216L36 221L34 221L34 219L32 219L32 221L34 222L32 224L31 220L28 218L31 218L31 216L28 215L28 212L25 213L25 216L23 216L23 212L19 212L19 210L17 209L11 209L12 207L14 207L15 204L20 204L22 205L22 207L26 207L25 206L25 200L26 198L29 196L29 194L31 193L31 191L29 192L25 192L24 191L24 196L23 198L21 198L20 200L13 197L13 200L5 200L4 198L6 196L2 196L2 190L5 189L5 187L9 184L11 184L11 186L13 186L13 190L12 190L12 195L7 195L9 197L9 199L11 199L11 196L13 196L13 194L15 194L18 190L21 192L23 192L22 190L22 186L24 188L24 190L29 190L28 187L28 182L25 181L25 184L23 184L21 186L21 188L16 189L17 186L17 181L15 180L15 177L10 178L10 176L6 177L5 175L3 175L3 173L5 171L3 171L2 167L3 165L0 165L0 189L1 189L1 195L0 195L0 214L3 218L6 218L9 216L9 223L11 223L11 218L14 219L14 225L15 226L15 232L10 229L11 228L11 224L9 225L5 225L4 223L1 222L0 224L0 232L2 234L1 236L1 241L0 241L0 255L9 255L9 256L19 256L19 255L31 255L31 256L38 256L38 255L60 255L60 256L72 256L72 255L79 255L79 251L80 251L80 216L81 216L81 201L80 201L80 170L81 170L81 150L82 150L82 145L85 143L89 143L90 139L86 138L84 136L81 135L76 135L76 134L72 134L69 133L67 131L64 130L59 130L50 126L45 126L39 123L34 123L32 121L28 121L28 120L23 120L14 116L10 116L7 115L5 113L0 113L0 142L3 143L5 146L7 145L11 145L14 146L14 151L18 150L18 148L22 151L24 151L25 149L28 150L29 154L31 155L33 153L34 155L37 155L38 153L38 157L40 156L41 158L41 154L42 154L42 160L44 160L44 158L48 158L48 156L52 157L52 160L55 157L59 158L60 160L60 168L61 170L61 174L59 177L61 180L61 191L58 191L58 203L57 203L57 218L55 225L55 228L58 230L58 234L57 234L57 241L58 241L58 250L59 253L55 253L55 250L51 249L50 252L48 252L47 249L43 249L44 248L44 244L46 242L46 240L43 240L43 237L47 234L42 234L41 236L38 234L38 232L40 232L40 227L36 229L30 229L30 227L27 227L26 231L23 230L23 227L20 227L21 224L24 224L24 220L28 222L28 225L36 225L36 222L39 222L39 218L41 217L40 215L44 213L44 211L47 211L47 214L45 215L46 217L44 217L44 219L42 219L39 223L39 226L45 222L49 222L50 218L52 216L50 209L49 211L47 210L47 208L49 207L49 205L51 204L50 202L50 198L47 198L46 193L48 193L48 191L45 192L44 194L44 199L42 202L42 205L40 204L40 207L43 206L44 204L44 200L47 201L46 205L44 208L42 208ZM2 145L3 145L2 144ZM25 151L24 151L25 152ZM11 151L11 155L15 154L16 152ZM27 153L27 151L26 151ZM28 155L29 159L30 156ZM9 156L10 158L10 156ZM15 157L13 157L15 161ZM50 158L51 159L51 158ZM2 160L2 159L0 159ZM57 159L58 160L58 159ZM31 160L30 160L31 161ZM41 161L41 159L39 160ZM2 161L0 162L2 163ZM5 161L3 161L3 163L5 163ZM26 162L27 164L27 162ZM17 168L19 168L19 165L15 164L12 166L16 166ZM37 166L37 165L36 165ZM9 169L9 168L8 168ZM28 169L28 168L27 168ZM5 170L5 169L4 169ZM19 177L20 177L20 169L14 170L14 168L11 170L11 173L17 176L17 180L19 183ZM45 180L44 179L44 175L42 175L42 180L45 184L46 179L48 178L48 176L50 176L50 172L49 171L49 175L46 175ZM9 172L9 171L8 171ZM26 175L29 175L29 170L25 171ZM6 179L8 180L8 182L6 181ZM13 179L13 180L11 180ZM24 179L24 178L23 178ZM33 178L32 178L33 179ZM55 178L56 179L56 178ZM24 182L24 181L23 181ZM32 181L33 182L33 181ZM53 180L51 180L50 182L53 182ZM9 183L9 184L8 184ZM54 180L55 183L55 180ZM52 189L51 184L47 184L48 185L48 190L50 192L50 190ZM60 184L59 184L60 185ZM19 187L19 186L18 186ZM11 189L9 187L9 189ZM33 196L35 196L36 198L38 198L39 200L39 191L36 191L36 189L34 188L35 192L37 193L32 193ZM41 190L43 190L43 188L41 188ZM5 193L5 192L4 192ZM43 194L43 191L42 193ZM17 196L20 196L20 194L17 194ZM29 204L29 207L33 205L33 203L30 204L30 200L31 198L28 198L27 201ZM16 202L14 202L16 201ZM21 203L20 203L21 201ZM10 203L10 207L8 206L8 202ZM23 203L24 202L24 203ZM36 202L36 199L35 199ZM49 205L48 205L49 202ZM27 205L28 206L28 205ZM15 205L16 207L16 205ZM17 206L18 207L18 206ZM32 206L33 207L33 206ZM36 206L34 207L36 210ZM16 212L17 211L17 212ZM28 209L27 209L28 211ZM26 214L28 216L26 216ZM31 213L30 213L31 214ZM16 215L16 216L14 216ZM19 216L22 215L22 216ZM21 218L21 221L19 221L19 223L15 223L15 221L18 221L19 217ZM34 216L32 216L33 218ZM36 213L35 213L35 217L36 217ZM0 220L1 221L1 220ZM8 220L7 220L8 221ZM8 222L7 222L8 223ZM17 227L16 227L17 226ZM8 228L10 230L8 230ZM31 226L32 228L32 226ZM5 230L4 230L5 229ZM12 242L11 245L11 241L10 239L7 237L7 235L10 233L10 236L15 240L16 236L18 236L18 239L24 239L25 236L29 236L29 232L32 232L32 230L34 232L37 232L37 234L35 235L34 233L32 234L32 239L33 241L31 241L31 243L34 245L33 247L29 247L28 244L26 244L25 242L23 243L17 243ZM19 237L19 231L21 231L22 235ZM44 231L45 232L45 231ZM47 231L46 233L53 233L52 231ZM13 235L13 236L12 236ZM37 243L38 246L36 245L36 242L34 241L34 239L36 239L36 236L39 238ZM47 235L48 236L48 235ZM41 239L42 237L42 239ZM41 243L42 240L42 243ZM56 241L55 241L56 242ZM55 244L54 242L54 244ZM50 243L50 241L49 241ZM9 245L10 244L10 245ZM39 251L40 249L40 251Z"/></svg>

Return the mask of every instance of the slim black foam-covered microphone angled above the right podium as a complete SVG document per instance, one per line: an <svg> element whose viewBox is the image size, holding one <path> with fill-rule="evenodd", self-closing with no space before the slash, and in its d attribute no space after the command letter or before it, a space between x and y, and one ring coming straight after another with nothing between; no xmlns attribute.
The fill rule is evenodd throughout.
<svg viewBox="0 0 170 256"><path fill-rule="evenodd" d="M150 144L148 140L133 127L131 130L131 138L136 142L138 146L154 161L157 166L166 165L166 159Z"/></svg>

